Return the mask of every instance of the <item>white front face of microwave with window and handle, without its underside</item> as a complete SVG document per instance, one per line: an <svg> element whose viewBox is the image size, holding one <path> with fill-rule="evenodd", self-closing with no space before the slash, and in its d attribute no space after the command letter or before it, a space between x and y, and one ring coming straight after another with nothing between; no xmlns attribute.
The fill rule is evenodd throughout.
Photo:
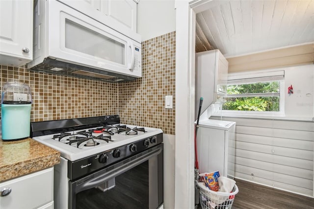
<svg viewBox="0 0 314 209"><path fill-rule="evenodd" d="M49 41L50 58L141 77L140 43L61 2L47 6L48 39L41 38Z"/></svg>

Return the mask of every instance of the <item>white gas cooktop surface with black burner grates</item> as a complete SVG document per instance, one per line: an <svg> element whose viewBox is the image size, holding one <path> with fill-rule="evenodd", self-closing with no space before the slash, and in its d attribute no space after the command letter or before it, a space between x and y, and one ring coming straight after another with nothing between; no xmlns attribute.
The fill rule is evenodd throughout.
<svg viewBox="0 0 314 209"><path fill-rule="evenodd" d="M115 124L110 126L112 127L111 130L116 127L126 127L124 131L122 131L122 129L120 128L119 132L98 132L99 130L103 130L104 127L106 126L77 131L58 132L41 136L33 136L32 138L47 146L52 147L53 149L58 150L62 157L71 161L75 161L84 157L97 155L101 152L124 145L128 146L130 143L136 142L138 140L144 139L145 141L146 139L149 140L150 143L151 141L153 143L156 143L156 140L154 140L154 138L152 139L151 137L162 133L160 129L138 127L126 124ZM145 130L145 132L137 131L136 134L128 134L130 133L130 131L136 131L138 129L143 129ZM96 132L94 132L94 130ZM88 146L88 143L90 146Z"/></svg>

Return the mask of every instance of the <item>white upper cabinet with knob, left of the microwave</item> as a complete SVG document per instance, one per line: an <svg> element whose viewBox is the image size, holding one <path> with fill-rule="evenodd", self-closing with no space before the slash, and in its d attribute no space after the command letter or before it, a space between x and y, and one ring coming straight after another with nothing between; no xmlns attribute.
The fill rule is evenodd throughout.
<svg viewBox="0 0 314 209"><path fill-rule="evenodd" d="M20 67L33 58L33 1L0 0L0 64Z"/></svg>

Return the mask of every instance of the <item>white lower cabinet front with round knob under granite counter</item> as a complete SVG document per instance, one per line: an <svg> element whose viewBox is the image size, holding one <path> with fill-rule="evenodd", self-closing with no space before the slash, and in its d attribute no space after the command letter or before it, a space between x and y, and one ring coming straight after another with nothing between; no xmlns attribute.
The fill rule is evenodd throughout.
<svg viewBox="0 0 314 209"><path fill-rule="evenodd" d="M2 182L0 191L0 209L53 209L53 167Z"/></svg>

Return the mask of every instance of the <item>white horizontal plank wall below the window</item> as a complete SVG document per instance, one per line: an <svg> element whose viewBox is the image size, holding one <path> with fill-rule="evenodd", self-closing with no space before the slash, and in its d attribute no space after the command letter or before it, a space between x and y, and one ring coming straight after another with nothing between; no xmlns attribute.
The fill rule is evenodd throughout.
<svg viewBox="0 0 314 209"><path fill-rule="evenodd" d="M222 120L236 122L235 178L314 196L313 122Z"/></svg>

